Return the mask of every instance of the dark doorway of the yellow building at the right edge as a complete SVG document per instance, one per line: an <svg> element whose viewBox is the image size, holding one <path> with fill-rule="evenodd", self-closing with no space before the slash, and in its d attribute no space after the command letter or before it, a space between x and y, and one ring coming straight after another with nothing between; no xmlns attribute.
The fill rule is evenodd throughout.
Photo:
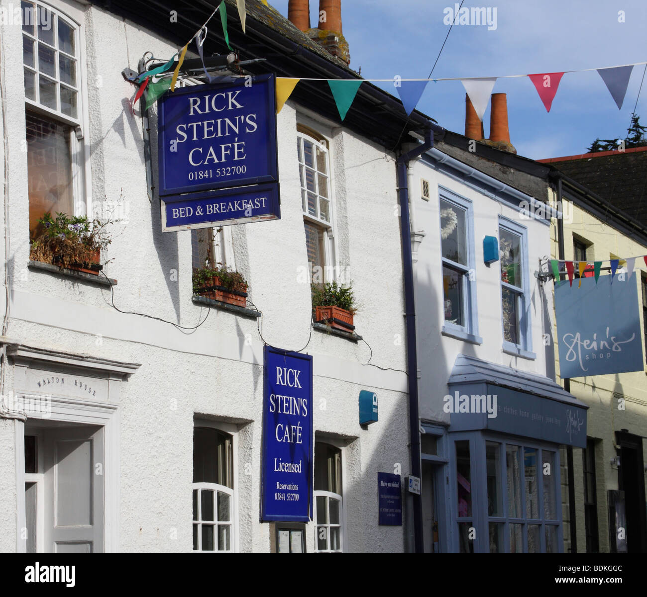
<svg viewBox="0 0 647 597"><path fill-rule="evenodd" d="M647 552L647 516L645 512L644 465L642 437L628 432L616 432L620 446L618 485L624 491L627 518L627 550Z"/></svg>

